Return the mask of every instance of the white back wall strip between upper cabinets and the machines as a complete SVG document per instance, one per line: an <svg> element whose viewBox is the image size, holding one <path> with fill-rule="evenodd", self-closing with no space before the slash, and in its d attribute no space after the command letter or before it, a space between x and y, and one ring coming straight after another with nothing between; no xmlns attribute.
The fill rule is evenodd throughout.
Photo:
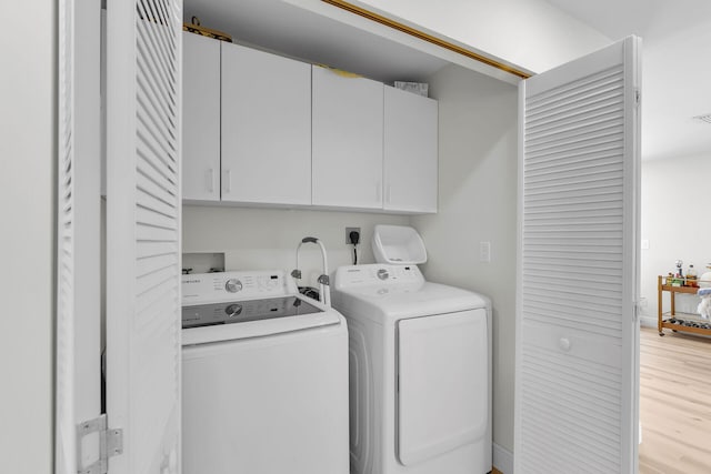
<svg viewBox="0 0 711 474"><path fill-rule="evenodd" d="M352 246L346 244L346 228L361 228L359 263L372 263L373 225L408 223L402 215L281 209L183 206L183 253L224 252L227 270L293 270L297 245L316 236L326 245L329 270L351 264ZM303 245L300 265L317 286L321 253Z"/></svg>

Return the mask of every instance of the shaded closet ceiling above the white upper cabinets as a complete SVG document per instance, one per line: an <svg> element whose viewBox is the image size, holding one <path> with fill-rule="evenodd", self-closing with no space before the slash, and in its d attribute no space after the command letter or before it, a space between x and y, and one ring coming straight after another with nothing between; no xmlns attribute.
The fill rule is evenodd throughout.
<svg viewBox="0 0 711 474"><path fill-rule="evenodd" d="M282 0L184 0L186 21L309 62L381 81L423 82L448 62Z"/></svg>

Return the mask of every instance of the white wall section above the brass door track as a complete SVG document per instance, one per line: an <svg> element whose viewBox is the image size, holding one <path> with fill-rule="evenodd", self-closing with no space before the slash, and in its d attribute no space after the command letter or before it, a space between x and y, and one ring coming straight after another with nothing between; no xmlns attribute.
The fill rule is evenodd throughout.
<svg viewBox="0 0 711 474"><path fill-rule="evenodd" d="M533 72L611 40L543 0L360 0L354 3L433 31Z"/></svg>

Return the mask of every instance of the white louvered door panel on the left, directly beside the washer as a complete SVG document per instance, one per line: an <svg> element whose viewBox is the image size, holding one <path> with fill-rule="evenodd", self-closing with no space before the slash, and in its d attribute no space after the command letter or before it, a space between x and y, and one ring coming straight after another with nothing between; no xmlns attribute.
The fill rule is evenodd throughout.
<svg viewBox="0 0 711 474"><path fill-rule="evenodd" d="M107 7L111 474L180 471L180 0Z"/></svg>

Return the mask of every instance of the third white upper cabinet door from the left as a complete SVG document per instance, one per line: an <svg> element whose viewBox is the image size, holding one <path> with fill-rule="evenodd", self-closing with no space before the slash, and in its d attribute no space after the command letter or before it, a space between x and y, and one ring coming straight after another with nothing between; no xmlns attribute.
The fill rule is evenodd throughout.
<svg viewBox="0 0 711 474"><path fill-rule="evenodd" d="M382 209L383 84L313 67L313 204Z"/></svg>

